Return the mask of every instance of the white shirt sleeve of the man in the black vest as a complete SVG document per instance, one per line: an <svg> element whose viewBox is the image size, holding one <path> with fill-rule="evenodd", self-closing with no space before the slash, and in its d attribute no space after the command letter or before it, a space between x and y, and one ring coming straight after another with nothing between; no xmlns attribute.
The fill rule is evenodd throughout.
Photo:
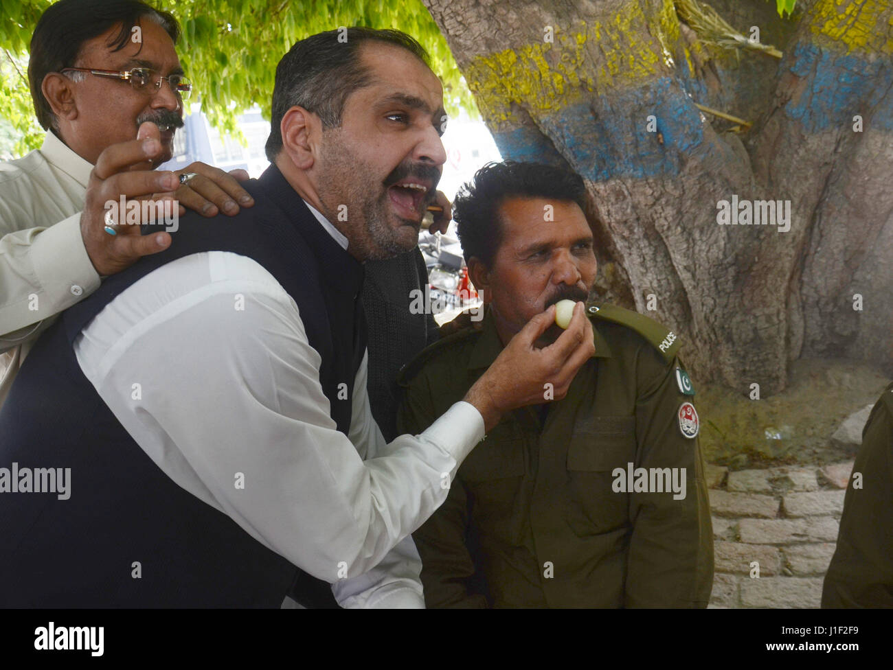
<svg viewBox="0 0 893 670"><path fill-rule="evenodd" d="M358 451L330 418L295 302L236 254L196 254L143 277L75 352L171 479L329 583L378 566L430 517L447 495L441 473L483 436L480 413L458 402L419 435L380 444L372 431Z"/></svg>

